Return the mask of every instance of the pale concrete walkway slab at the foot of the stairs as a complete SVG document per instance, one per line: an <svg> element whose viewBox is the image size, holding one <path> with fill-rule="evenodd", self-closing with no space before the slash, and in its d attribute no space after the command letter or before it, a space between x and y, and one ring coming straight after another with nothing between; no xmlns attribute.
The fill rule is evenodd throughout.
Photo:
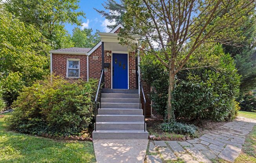
<svg viewBox="0 0 256 163"><path fill-rule="evenodd" d="M143 163L148 139L97 139L93 147L97 163Z"/></svg>

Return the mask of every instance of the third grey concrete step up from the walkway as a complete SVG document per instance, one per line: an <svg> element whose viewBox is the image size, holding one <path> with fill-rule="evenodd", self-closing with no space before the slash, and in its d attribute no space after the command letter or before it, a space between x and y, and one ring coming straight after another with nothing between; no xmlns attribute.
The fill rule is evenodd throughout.
<svg viewBox="0 0 256 163"><path fill-rule="evenodd" d="M106 121L144 121L143 115L133 114L103 114L97 115L97 122Z"/></svg>

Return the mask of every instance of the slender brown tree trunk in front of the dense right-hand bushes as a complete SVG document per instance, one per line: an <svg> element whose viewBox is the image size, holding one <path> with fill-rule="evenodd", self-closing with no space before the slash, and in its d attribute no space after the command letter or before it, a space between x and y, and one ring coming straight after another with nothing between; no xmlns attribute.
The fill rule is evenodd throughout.
<svg viewBox="0 0 256 163"><path fill-rule="evenodd" d="M174 70L169 69L169 87L168 87L168 102L167 102L167 120L174 121L174 110L172 108L172 91L174 89Z"/></svg>

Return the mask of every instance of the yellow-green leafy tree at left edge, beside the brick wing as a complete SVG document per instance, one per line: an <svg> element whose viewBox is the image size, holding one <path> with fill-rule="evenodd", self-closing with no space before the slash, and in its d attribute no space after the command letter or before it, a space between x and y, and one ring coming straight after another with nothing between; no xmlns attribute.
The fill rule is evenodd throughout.
<svg viewBox="0 0 256 163"><path fill-rule="evenodd" d="M0 92L10 105L22 88L49 74L51 47L33 25L24 25L1 6L0 15Z"/></svg>

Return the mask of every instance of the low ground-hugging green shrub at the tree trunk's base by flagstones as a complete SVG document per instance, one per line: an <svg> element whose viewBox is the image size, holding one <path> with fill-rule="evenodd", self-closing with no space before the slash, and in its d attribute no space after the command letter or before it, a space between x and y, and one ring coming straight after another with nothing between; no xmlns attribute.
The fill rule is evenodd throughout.
<svg viewBox="0 0 256 163"><path fill-rule="evenodd" d="M172 132L176 134L185 134L189 136L196 136L197 127L194 125L187 125L179 122L162 123L160 129L165 132Z"/></svg>

